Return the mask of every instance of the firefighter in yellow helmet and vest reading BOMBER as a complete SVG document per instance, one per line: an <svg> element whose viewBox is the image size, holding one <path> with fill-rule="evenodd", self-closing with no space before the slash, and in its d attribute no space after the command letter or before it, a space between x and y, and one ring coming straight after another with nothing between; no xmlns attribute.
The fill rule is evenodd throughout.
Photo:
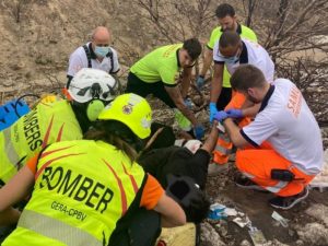
<svg viewBox="0 0 328 246"><path fill-rule="evenodd" d="M85 140L50 144L0 190L0 211L28 196L5 245L107 245L117 222L139 207L163 226L186 223L184 210L136 162L150 134L151 108L136 94L106 107Z"/></svg>

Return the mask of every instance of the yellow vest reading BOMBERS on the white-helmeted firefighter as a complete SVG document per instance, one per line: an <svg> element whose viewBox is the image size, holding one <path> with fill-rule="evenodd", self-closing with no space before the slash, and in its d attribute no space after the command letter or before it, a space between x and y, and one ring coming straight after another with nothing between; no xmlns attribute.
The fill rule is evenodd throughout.
<svg viewBox="0 0 328 246"><path fill-rule="evenodd" d="M1 131L0 179L4 183L38 153L56 141L82 139L82 131L69 102L39 103L10 128Z"/></svg>

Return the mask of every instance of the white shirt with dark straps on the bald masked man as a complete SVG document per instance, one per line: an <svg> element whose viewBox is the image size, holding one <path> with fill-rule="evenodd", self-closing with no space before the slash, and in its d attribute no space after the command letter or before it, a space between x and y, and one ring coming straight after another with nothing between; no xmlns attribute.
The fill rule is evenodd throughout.
<svg viewBox="0 0 328 246"><path fill-rule="evenodd" d="M90 43L87 43L86 46L90 47ZM95 57L92 57L91 58L92 68L99 69L108 73L110 72L112 74L118 72L119 63L117 58L117 51L112 47L110 50L113 52L113 69L112 69L112 61L109 57L104 57L102 62L99 62L97 59L94 59ZM87 68L87 57L84 48L81 46L71 54L67 74L70 77L74 77L75 73L80 71L80 69L82 68Z"/></svg>

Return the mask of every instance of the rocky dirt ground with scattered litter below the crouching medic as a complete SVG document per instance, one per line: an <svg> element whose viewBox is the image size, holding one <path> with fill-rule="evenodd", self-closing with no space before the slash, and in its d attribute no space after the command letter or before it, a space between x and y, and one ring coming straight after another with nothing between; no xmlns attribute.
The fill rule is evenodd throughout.
<svg viewBox="0 0 328 246"><path fill-rule="evenodd" d="M328 156L327 156L328 157ZM202 245L253 245L247 225L238 226L233 220L247 216L251 226L262 232L263 245L328 245L328 190L311 190L308 198L291 211L279 211L268 206L271 194L244 190L237 187L232 177L235 174L234 163L215 177L208 179L208 195L213 202L235 209L237 215L221 220L207 220L202 224ZM284 227L272 219L276 211L288 219Z"/></svg>

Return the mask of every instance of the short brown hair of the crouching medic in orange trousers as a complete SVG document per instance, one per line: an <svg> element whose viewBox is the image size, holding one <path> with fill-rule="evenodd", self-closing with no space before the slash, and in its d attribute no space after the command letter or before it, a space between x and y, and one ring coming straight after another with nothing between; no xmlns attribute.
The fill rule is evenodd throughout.
<svg viewBox="0 0 328 246"><path fill-rule="evenodd" d="M262 87L266 78L261 70L253 65L241 65L230 79L233 90L247 91L249 87Z"/></svg>

